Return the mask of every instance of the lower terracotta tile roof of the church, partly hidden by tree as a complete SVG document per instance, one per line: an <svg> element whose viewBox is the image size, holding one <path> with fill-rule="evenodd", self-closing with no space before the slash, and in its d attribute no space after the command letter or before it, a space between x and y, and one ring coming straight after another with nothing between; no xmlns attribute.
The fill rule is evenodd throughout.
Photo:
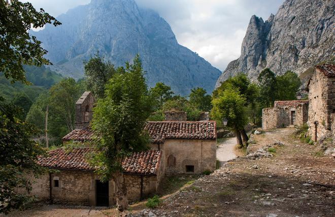
<svg viewBox="0 0 335 217"><path fill-rule="evenodd" d="M94 171L96 167L86 161L86 155L92 151L94 151L92 148L75 148L71 151L59 148L48 152L46 157L39 157L38 163L54 169ZM161 151L156 150L135 153L123 160L123 171L133 174L156 174L160 166L161 155Z"/></svg>

